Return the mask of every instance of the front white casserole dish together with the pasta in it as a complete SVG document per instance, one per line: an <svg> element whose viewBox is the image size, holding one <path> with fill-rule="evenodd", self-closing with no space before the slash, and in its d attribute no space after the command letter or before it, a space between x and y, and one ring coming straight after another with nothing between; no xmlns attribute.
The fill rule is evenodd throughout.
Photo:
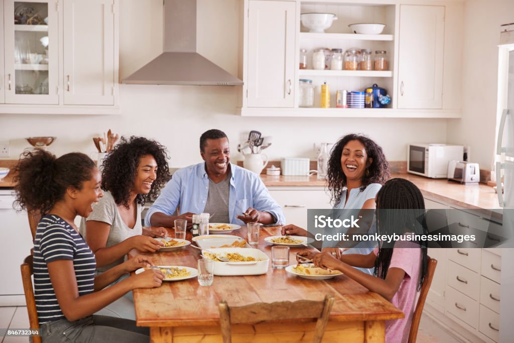
<svg viewBox="0 0 514 343"><path fill-rule="evenodd" d="M201 255L215 261L214 275L261 275L266 274L269 257L259 249L253 248L212 248L203 249ZM222 262L216 256L227 258Z"/></svg>

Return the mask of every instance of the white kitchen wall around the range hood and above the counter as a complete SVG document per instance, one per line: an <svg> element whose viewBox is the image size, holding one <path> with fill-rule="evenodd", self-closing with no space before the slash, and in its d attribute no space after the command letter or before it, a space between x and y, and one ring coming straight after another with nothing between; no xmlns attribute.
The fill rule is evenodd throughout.
<svg viewBox="0 0 514 343"><path fill-rule="evenodd" d="M160 4L161 0L121 0L120 79L160 53ZM199 52L234 75L240 69L239 6L240 0L199 0L198 11ZM444 142L447 137L445 119L241 117L235 114L237 92L239 87L121 84L120 116L1 115L0 140L10 140L10 158L28 147L23 139L28 136L57 136L49 150L58 155L91 153L95 151L91 137L111 129L159 140L169 148L170 166L182 167L200 160L198 138L211 128L227 133L233 161L242 159L236 146L250 130L274 136L266 150L270 159L315 158L313 142L334 142L346 133L359 132L375 139L388 159L405 160L408 142Z"/></svg>

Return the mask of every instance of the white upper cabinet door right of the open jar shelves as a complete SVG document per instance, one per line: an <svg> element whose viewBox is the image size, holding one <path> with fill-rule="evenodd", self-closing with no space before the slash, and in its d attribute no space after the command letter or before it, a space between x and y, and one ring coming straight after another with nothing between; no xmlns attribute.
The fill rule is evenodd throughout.
<svg viewBox="0 0 514 343"><path fill-rule="evenodd" d="M444 6L400 6L398 108L443 108Z"/></svg>

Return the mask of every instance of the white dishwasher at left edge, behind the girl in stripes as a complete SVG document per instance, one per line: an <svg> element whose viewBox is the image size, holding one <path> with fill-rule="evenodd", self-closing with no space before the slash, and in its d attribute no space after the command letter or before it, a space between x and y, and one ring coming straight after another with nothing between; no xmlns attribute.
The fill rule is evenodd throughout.
<svg viewBox="0 0 514 343"><path fill-rule="evenodd" d="M25 306L20 265L33 247L27 212L13 208L13 192L0 189L0 306Z"/></svg>

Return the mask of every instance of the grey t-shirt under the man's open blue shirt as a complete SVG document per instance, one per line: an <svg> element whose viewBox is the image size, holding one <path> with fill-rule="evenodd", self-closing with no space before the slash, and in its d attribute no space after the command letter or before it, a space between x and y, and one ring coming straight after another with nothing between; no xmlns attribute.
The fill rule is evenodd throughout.
<svg viewBox="0 0 514 343"><path fill-rule="evenodd" d="M209 179L209 194L204 209L204 212L210 213L209 223L230 223L228 218L230 177L232 177L232 173L229 173L226 179L217 184Z"/></svg>

